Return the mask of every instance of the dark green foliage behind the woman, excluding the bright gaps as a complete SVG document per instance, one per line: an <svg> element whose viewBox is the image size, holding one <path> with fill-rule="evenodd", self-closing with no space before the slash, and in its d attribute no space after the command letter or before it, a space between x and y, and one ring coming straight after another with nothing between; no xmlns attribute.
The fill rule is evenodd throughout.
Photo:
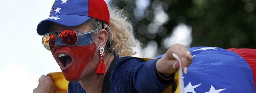
<svg viewBox="0 0 256 93"><path fill-rule="evenodd" d="M139 17L136 16L136 13L140 13L136 5L140 4L136 4L136 1L114 3L119 8L127 6L136 38L143 44L155 40L158 47L163 47L161 41L170 35L173 27L185 23L192 27L191 47L256 48L255 0L151 0L144 9L144 15ZM147 28L154 21L154 10L159 8L158 5L167 13L168 20L156 29L155 34L150 34Z"/></svg>

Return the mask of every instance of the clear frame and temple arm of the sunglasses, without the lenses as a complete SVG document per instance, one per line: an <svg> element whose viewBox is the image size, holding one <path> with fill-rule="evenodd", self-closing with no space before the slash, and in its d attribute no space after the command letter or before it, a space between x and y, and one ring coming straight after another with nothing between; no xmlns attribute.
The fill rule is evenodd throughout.
<svg viewBox="0 0 256 93"><path fill-rule="evenodd" d="M86 32L77 32L77 31L74 30L74 29L64 29L64 30L73 30L73 31L76 33L76 38L77 38L76 44L77 44L77 41L78 41L78 38L80 38L80 37L79 37L80 35L84 35L84 34L96 32L96 31L100 31L101 29L94 29L94 30L89 30L89 31L86 31ZM61 33L62 31L64 31L64 30L46 33L45 35L53 34L54 37L55 37L54 43L56 43L56 39L59 38L60 33ZM56 32L58 32L58 36L55 34ZM45 49L47 49L46 46L45 46L45 44L44 44L44 36L45 36L45 35L43 35L43 37L42 37L42 44L44 45ZM60 39L60 41L61 41L63 44L65 44L61 39ZM72 46L75 46L76 44L74 44L74 45L72 45ZM70 45L67 45L67 44L65 44L65 45L66 45L66 46L70 46ZM54 44L53 48L52 48L51 50L49 50L49 51L52 51L52 50L54 50L54 49L55 49L55 44ZM48 50L48 49L47 49L47 50Z"/></svg>

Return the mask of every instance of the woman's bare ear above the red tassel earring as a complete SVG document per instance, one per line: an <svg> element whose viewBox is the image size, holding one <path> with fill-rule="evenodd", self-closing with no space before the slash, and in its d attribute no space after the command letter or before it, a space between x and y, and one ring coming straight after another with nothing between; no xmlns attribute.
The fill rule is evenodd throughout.
<svg viewBox="0 0 256 93"><path fill-rule="evenodd" d="M107 41L108 41L108 32L107 30L105 29L101 29L99 32L98 32L98 46L103 46L105 47L106 44L107 44Z"/></svg>

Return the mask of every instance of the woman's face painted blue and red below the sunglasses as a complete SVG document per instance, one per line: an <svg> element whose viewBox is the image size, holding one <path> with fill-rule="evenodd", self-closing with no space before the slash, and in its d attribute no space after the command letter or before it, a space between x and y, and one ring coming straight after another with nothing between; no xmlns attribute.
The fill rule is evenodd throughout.
<svg viewBox="0 0 256 93"><path fill-rule="evenodd" d="M96 49L97 46L88 33L80 35L75 46L65 46L57 38L52 55L60 66L65 79L76 81L86 65L92 61Z"/></svg>

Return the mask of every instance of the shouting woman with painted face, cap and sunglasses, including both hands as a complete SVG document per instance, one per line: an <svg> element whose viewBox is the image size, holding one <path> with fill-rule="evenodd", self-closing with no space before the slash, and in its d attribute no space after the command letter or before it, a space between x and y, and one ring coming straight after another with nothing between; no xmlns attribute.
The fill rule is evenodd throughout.
<svg viewBox="0 0 256 93"><path fill-rule="evenodd" d="M184 73L192 61L180 44L157 60L130 57L136 53L131 47L139 43L132 25L122 10L108 10L104 0L55 0L37 33L44 35L43 45L70 81L70 93L162 92L173 84L179 68L172 54L181 59ZM42 91L55 91L50 77L39 79L34 92Z"/></svg>

